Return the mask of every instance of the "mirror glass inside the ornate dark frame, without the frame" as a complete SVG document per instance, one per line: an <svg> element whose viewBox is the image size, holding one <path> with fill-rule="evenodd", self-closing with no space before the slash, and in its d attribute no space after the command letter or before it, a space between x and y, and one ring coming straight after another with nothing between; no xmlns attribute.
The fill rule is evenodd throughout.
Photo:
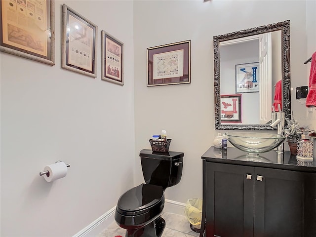
<svg viewBox="0 0 316 237"><path fill-rule="evenodd" d="M269 122L277 92L275 85L282 79L281 32L222 41L219 45L221 123L237 125ZM231 94L240 94L240 119L233 118L231 111L234 108L229 108L233 105L225 106L225 95Z"/></svg>

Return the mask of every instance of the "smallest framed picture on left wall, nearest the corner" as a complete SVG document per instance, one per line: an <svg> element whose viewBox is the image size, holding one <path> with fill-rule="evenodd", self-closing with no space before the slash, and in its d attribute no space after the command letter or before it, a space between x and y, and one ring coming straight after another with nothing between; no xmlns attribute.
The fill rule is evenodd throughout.
<svg viewBox="0 0 316 237"><path fill-rule="evenodd" d="M124 85L123 52L124 43L115 39L104 30L101 31L101 79Z"/></svg>

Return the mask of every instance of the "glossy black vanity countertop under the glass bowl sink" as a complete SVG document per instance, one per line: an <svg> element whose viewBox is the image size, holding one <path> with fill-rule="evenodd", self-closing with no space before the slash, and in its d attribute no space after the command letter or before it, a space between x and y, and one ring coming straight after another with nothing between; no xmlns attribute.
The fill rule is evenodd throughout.
<svg viewBox="0 0 316 237"><path fill-rule="evenodd" d="M313 167L298 166L296 163L296 156L291 155L289 151L284 151L283 155L278 155L276 151L270 151L259 154L258 158L247 157L247 153L235 147L228 147L227 151L220 148L210 147L203 155L202 159L205 161L247 165L256 167L266 167L275 169L285 169L294 171L305 171L316 173L316 163Z"/></svg>

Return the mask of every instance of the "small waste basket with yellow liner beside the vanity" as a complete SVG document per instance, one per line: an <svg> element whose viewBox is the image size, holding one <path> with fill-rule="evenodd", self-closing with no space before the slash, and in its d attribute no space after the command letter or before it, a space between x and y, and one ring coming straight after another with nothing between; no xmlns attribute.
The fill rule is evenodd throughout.
<svg viewBox="0 0 316 237"><path fill-rule="evenodd" d="M188 199L185 213L190 222L191 230L199 233L202 221L202 198Z"/></svg>

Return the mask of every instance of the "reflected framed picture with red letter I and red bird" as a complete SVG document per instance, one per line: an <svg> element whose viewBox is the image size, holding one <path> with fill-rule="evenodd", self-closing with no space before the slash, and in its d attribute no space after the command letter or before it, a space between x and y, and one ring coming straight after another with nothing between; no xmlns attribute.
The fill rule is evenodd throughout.
<svg viewBox="0 0 316 237"><path fill-rule="evenodd" d="M221 122L241 122L241 94L221 95Z"/></svg>

